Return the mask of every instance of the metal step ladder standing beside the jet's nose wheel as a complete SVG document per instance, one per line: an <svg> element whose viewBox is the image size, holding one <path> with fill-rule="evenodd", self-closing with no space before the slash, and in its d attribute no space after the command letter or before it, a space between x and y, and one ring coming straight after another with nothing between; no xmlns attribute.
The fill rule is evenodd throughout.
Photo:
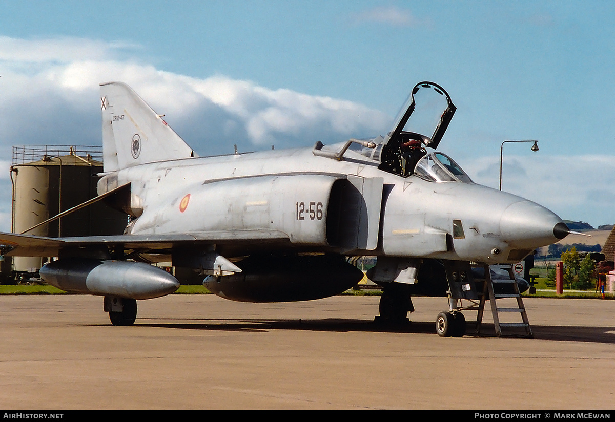
<svg viewBox="0 0 615 422"><path fill-rule="evenodd" d="M482 280L483 292L479 294L480 302L478 304L478 315L476 317L476 334L480 334L480 326L483 321L483 311L485 310L485 300L489 299L489 302L491 303L491 314L493 315L493 326L495 327L496 335L498 337L502 335L502 327L523 327L527 337L534 337L532 328L530 327L530 320L528 319L525 306L523 305L523 299L521 298L521 294L519 292L519 286L517 285L517 280L515 280L512 265L507 265L510 279L491 279L489 265L485 265L484 268L485 279ZM475 281L480 282L480 279L476 279ZM494 293L494 284L504 287L504 290L507 291L507 293ZM506 287L509 288L507 289ZM498 308L496 299L505 297L517 299L517 307ZM500 312L518 312L520 313L523 322L499 322Z"/></svg>

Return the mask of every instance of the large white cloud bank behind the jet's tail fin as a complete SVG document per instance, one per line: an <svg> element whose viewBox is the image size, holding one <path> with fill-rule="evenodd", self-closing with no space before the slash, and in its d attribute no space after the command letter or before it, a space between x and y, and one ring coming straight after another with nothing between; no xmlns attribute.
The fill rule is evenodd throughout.
<svg viewBox="0 0 615 422"><path fill-rule="evenodd" d="M220 75L198 79L123 58L138 49L125 42L0 36L0 190L10 192L11 146L100 144L98 84L110 80L131 85L199 155L230 153L233 144L254 150L340 142L379 135L389 124L387 115L351 101ZM10 194L4 197L0 229L7 230Z"/></svg>

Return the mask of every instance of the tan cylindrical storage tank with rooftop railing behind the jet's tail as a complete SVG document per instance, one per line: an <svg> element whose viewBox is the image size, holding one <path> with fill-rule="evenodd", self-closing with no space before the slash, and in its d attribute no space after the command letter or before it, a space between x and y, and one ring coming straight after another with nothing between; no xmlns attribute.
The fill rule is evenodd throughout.
<svg viewBox="0 0 615 422"><path fill-rule="evenodd" d="M22 233L66 209L97 196L95 174L102 173L102 147L13 147L12 232ZM28 235L97 236L122 234L124 213L102 201L28 231ZM15 257L14 270L36 272L46 259Z"/></svg>

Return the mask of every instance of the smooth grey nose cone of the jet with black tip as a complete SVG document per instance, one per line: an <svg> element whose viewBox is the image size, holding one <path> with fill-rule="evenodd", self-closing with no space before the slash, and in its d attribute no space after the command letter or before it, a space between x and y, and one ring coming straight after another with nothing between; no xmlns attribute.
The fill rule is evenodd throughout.
<svg viewBox="0 0 615 422"><path fill-rule="evenodd" d="M549 209L532 201L508 206L500 219L502 240L514 248L547 246L568 235L568 226Z"/></svg>

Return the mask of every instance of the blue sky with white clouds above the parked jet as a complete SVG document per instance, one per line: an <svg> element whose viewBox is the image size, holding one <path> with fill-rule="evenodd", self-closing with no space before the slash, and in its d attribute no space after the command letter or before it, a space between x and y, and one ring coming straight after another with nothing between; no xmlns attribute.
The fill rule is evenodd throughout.
<svg viewBox="0 0 615 422"><path fill-rule="evenodd" d="M11 1L0 14L0 230L12 146L101 144L131 85L199 155L386 133L430 80L474 182L615 223L615 2ZM2 169L5 170L2 170Z"/></svg>

